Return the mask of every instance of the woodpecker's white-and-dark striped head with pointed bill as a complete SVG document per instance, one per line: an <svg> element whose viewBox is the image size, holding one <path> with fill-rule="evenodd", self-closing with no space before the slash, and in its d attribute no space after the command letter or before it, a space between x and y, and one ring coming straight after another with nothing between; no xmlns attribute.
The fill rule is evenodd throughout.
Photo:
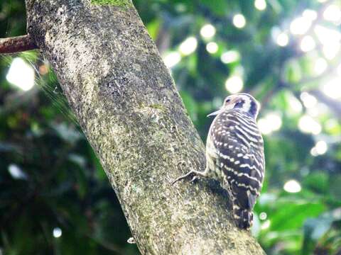
<svg viewBox="0 0 341 255"><path fill-rule="evenodd" d="M249 113L249 115L256 119L259 112L259 108L260 104L258 103L258 101L256 101L256 99L253 96L246 93L240 93L227 96L227 98L225 98L224 100L222 107L218 111L215 111L214 113L211 113L207 116L218 115L225 111L232 111L233 109L238 109L239 111Z"/></svg>

